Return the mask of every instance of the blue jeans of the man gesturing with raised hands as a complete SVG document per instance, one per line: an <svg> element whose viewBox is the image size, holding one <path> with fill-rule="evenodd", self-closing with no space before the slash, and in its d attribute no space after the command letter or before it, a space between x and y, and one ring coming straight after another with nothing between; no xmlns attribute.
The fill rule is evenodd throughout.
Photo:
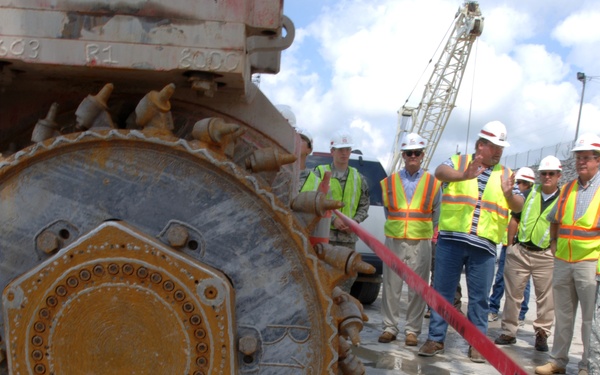
<svg viewBox="0 0 600 375"><path fill-rule="evenodd" d="M487 334L488 296L494 279L495 261L495 256L484 249L464 242L438 239L433 287L452 304L464 267L469 298L467 318L484 335ZM443 342L447 331L448 323L432 310L428 339Z"/></svg>

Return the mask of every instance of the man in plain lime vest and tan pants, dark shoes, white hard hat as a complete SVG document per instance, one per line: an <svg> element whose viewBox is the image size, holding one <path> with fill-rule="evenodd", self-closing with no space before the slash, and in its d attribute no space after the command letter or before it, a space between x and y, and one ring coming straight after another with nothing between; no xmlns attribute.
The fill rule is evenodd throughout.
<svg viewBox="0 0 600 375"><path fill-rule="evenodd" d="M554 322L552 272L554 254L550 250L550 222L548 213L554 208L559 195L558 181L562 163L555 156L546 156L538 167L540 183L526 194L523 211L511 218L518 223L517 242L506 251L504 282L506 299L502 313L502 334L494 341L497 345L517 342L518 313L529 277L535 288L536 319L535 350L548 351L548 336Z"/></svg>

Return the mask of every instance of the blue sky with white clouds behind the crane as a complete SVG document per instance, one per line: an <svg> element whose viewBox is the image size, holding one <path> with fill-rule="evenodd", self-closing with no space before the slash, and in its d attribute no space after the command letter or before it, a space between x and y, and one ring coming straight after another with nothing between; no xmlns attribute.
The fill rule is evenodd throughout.
<svg viewBox="0 0 600 375"><path fill-rule="evenodd" d="M483 34L430 168L457 148L471 152L478 130L492 120L507 126L511 147L505 155L572 139L582 89L576 73L600 76L597 0L479 4ZM357 148L387 166L397 111L413 89L409 103L420 100L431 74L427 63L446 42L461 5L287 0L284 14L294 22L296 37L282 53L280 73L261 76L260 88L273 103L291 106L298 126L315 138L315 150L327 151L333 133L345 129ZM600 77L587 82L579 134L600 134L599 125Z"/></svg>

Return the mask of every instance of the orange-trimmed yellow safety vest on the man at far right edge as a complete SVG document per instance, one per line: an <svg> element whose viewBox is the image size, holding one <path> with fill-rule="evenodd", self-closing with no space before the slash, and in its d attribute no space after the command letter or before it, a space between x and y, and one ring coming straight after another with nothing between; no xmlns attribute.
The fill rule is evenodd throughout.
<svg viewBox="0 0 600 375"><path fill-rule="evenodd" d="M559 223L555 256L572 263L598 260L600 255L600 228L597 226L600 215L600 189L596 190L583 216L575 220L578 188L579 183L573 180L560 191L555 216Z"/></svg>

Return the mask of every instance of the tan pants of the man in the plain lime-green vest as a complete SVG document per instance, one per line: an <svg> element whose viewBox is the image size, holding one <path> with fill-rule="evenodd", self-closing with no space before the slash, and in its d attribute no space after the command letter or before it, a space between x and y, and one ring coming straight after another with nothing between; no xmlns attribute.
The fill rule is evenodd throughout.
<svg viewBox="0 0 600 375"><path fill-rule="evenodd" d="M520 244L506 249L504 265L504 291L506 293L502 312L502 329L505 335L517 336L519 312L529 276L533 279L537 317L533 321L535 331L541 329L550 335L554 322L554 298L552 274L554 256L545 251L527 250Z"/></svg>

